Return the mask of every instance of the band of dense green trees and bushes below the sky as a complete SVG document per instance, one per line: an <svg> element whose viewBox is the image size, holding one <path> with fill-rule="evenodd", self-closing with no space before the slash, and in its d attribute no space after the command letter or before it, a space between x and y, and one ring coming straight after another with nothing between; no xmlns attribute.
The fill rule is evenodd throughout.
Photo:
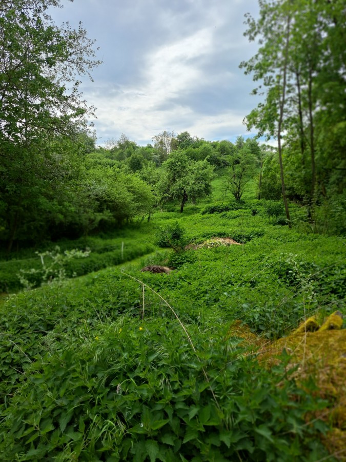
<svg viewBox="0 0 346 462"><path fill-rule="evenodd" d="M179 202L182 212L188 201L211 193L215 168L240 168L246 160L242 188L261 156L259 144L242 137L233 144L164 131L153 141L138 146L123 134L97 147L90 134L77 130L46 139L43 147L18 147L15 162L1 157L3 244L10 251L13 245L107 231L149 219L168 202Z"/></svg>

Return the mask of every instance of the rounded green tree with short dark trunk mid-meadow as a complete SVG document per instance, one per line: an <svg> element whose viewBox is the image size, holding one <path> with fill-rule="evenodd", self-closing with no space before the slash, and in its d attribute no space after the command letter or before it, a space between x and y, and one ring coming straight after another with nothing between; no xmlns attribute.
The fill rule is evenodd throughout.
<svg viewBox="0 0 346 462"><path fill-rule="evenodd" d="M182 151L173 151L162 164L156 190L161 202L180 202L180 213L188 200L193 202L211 194L213 167L208 160L192 161Z"/></svg>

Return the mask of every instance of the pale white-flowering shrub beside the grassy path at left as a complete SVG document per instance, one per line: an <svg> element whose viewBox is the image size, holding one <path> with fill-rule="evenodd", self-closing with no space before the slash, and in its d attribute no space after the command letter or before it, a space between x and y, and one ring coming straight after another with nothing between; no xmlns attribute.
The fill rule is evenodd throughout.
<svg viewBox="0 0 346 462"><path fill-rule="evenodd" d="M43 253L35 252L41 260L42 267L39 269L20 269L18 278L25 290L52 283L61 283L67 279L65 264L74 258L87 258L91 251L87 248L85 251L76 248L64 253L60 252L60 247L55 246L53 251ZM45 260L46 258L46 260ZM76 274L72 274L75 277Z"/></svg>

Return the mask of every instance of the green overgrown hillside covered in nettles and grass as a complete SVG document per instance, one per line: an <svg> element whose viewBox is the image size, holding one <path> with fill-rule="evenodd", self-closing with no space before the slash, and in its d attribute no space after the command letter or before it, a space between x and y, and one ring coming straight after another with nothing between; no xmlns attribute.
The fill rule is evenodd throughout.
<svg viewBox="0 0 346 462"><path fill-rule="evenodd" d="M342 459L345 241L289 230L254 185L236 202L223 181L183 214L172 205L57 242L91 253L2 299L2 460ZM159 248L176 222L187 250ZM3 291L18 291L19 268L42 266L34 249L17 257L1 263Z"/></svg>

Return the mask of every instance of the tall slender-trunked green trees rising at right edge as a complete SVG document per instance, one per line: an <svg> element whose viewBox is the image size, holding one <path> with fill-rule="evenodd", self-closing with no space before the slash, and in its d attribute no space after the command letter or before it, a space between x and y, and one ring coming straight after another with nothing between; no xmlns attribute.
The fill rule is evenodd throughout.
<svg viewBox="0 0 346 462"><path fill-rule="evenodd" d="M246 35L259 38L260 47L241 67L253 73L259 83L253 93L266 94L266 101L248 115L247 125L277 137L279 162L294 169L290 195L302 196L313 224L321 196L345 185L339 143L346 111L344 2L259 0L259 6L257 21L247 17Z"/></svg>

